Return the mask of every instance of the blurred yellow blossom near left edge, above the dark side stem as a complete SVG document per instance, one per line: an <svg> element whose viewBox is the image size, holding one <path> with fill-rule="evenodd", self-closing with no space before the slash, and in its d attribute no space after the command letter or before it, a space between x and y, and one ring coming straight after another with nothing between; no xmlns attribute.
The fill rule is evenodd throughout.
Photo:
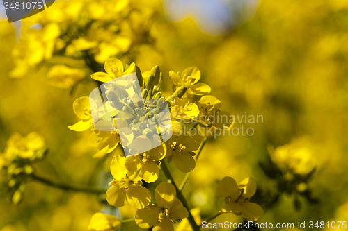
<svg viewBox="0 0 348 231"><path fill-rule="evenodd" d="M37 132L31 132L26 137L15 132L8 139L4 155L8 161L15 157L33 160L35 153L44 146L45 139Z"/></svg>

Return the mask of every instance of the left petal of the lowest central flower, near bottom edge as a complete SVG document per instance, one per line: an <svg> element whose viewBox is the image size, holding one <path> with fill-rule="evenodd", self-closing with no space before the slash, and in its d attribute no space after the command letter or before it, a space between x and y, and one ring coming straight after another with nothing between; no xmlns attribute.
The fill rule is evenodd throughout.
<svg viewBox="0 0 348 231"><path fill-rule="evenodd" d="M136 210L135 222L140 228L148 229L158 223L158 216L161 212L160 207L145 207Z"/></svg>

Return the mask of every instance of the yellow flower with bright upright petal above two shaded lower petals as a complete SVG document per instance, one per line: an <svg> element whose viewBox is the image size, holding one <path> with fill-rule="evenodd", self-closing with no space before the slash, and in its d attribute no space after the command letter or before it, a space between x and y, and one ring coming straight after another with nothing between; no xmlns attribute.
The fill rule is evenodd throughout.
<svg viewBox="0 0 348 231"><path fill-rule="evenodd" d="M114 178L110 182L112 186L106 191L106 200L110 205L122 207L127 202L133 207L141 209L150 204L150 191L141 186L141 177L127 171L125 157L115 155L110 169Z"/></svg>

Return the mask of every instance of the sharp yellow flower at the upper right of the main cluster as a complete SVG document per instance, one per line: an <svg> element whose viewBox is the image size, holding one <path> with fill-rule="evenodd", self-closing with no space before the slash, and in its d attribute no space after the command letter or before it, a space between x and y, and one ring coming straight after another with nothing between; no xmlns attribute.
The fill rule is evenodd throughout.
<svg viewBox="0 0 348 231"><path fill-rule="evenodd" d="M183 99L191 98L192 96L202 96L210 93L210 87L205 83L197 83L200 80L200 71L197 67L189 67L184 69L182 73L169 71L169 76L173 80L176 87L187 87L187 91L182 96Z"/></svg>

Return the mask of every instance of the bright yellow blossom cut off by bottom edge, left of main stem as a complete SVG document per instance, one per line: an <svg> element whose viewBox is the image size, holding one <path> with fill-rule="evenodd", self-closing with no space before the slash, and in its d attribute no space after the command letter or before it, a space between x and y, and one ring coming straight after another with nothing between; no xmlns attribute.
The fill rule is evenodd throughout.
<svg viewBox="0 0 348 231"><path fill-rule="evenodd" d="M116 231L121 227L122 223L116 216L102 214L97 212L90 219L88 230L95 231Z"/></svg>

